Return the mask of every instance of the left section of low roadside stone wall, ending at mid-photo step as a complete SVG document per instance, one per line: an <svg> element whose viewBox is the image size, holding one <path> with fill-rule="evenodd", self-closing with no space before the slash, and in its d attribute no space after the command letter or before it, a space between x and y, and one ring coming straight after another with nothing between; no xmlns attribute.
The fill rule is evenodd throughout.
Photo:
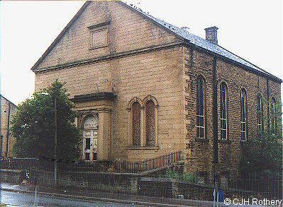
<svg viewBox="0 0 283 207"><path fill-rule="evenodd" d="M1 182L18 184L20 170L1 170ZM68 189L138 193L140 175L103 172L57 172L57 186ZM30 171L30 181L44 187L54 186L54 172Z"/></svg>

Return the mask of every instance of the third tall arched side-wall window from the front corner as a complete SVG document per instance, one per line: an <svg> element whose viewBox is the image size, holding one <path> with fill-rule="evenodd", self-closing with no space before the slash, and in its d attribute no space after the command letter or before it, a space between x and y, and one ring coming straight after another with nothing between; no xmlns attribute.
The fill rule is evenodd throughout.
<svg viewBox="0 0 283 207"><path fill-rule="evenodd" d="M248 139L248 104L247 92L244 88L240 90L240 140Z"/></svg>

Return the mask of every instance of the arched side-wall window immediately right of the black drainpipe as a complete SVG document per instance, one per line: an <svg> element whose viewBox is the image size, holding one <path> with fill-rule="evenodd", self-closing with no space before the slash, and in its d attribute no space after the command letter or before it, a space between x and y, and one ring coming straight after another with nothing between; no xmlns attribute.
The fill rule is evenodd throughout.
<svg viewBox="0 0 283 207"><path fill-rule="evenodd" d="M227 123L227 114L228 114L228 102L227 102L227 86L225 83L220 85L220 131L221 139L226 140L228 134L228 123Z"/></svg>

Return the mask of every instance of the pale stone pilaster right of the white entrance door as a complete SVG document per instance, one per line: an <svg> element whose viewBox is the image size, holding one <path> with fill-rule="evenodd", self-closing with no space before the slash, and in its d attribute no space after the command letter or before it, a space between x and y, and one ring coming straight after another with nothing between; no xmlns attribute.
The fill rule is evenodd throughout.
<svg viewBox="0 0 283 207"><path fill-rule="evenodd" d="M99 112L99 132L97 138L97 159L109 160L111 153L111 112Z"/></svg>

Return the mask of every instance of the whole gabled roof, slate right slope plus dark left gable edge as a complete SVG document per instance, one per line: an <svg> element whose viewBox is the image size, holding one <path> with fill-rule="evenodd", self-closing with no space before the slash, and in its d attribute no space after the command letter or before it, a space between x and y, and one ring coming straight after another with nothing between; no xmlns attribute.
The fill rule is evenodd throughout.
<svg viewBox="0 0 283 207"><path fill-rule="evenodd" d="M82 8L79 9L79 11L76 13L76 15L70 20L70 23L66 25L66 27L60 32L60 35L56 37L56 39L52 42L50 47L46 49L42 57L38 59L38 61L34 64L34 66L31 68L32 71L36 71L35 69L39 66L39 64L43 61L43 59L48 55L48 53L52 50L53 47L59 42L61 37L67 32L67 30L70 28L70 26L74 23L75 20L80 16L80 14L84 11L85 8L89 5L91 1L86 1ZM153 23L156 23L157 25L160 25L162 28L165 28L166 30L173 32L175 35L180 37L183 40L186 40L189 42L189 44L192 44L196 47L199 47L201 49L205 49L208 52L211 52L213 54L216 54L220 57L223 57L225 59L228 59L236 64L240 64L240 66L244 66L247 69L250 69L251 71L255 71L258 73L262 73L265 76L269 76L270 78L273 78L276 81L279 81L282 83L282 80L280 78L277 78L276 76L273 76L271 73L268 73L267 71L260 69L260 67L255 66L255 64L250 63L249 61L246 61L245 59L238 57L238 55L233 54L232 52L228 51L227 49L224 49L223 47L213 44L212 42L209 42L209 40L205 40L199 36L196 36L187 30L183 30L182 28L178 28L177 26L171 25L170 23L166 23L163 20L160 20L159 18L155 18L154 16L151 16L149 13L146 13L142 11L140 8L137 8L133 5L128 5L122 1L118 1L121 5L127 6L128 8L133 9L133 11L136 11L140 13L142 16L145 16L145 18L148 18Z"/></svg>

